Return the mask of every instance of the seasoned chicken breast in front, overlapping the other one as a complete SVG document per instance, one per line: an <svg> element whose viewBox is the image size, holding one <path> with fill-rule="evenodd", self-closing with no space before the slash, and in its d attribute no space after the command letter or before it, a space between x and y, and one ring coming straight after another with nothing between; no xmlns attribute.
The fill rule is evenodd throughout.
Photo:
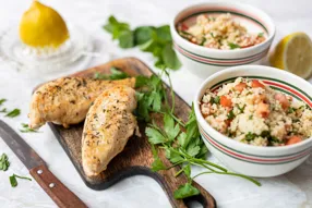
<svg viewBox="0 0 312 208"><path fill-rule="evenodd" d="M106 170L123 150L136 129L132 111L136 108L134 89L116 86L105 90L89 108L82 136L82 163L86 175Z"/></svg>

